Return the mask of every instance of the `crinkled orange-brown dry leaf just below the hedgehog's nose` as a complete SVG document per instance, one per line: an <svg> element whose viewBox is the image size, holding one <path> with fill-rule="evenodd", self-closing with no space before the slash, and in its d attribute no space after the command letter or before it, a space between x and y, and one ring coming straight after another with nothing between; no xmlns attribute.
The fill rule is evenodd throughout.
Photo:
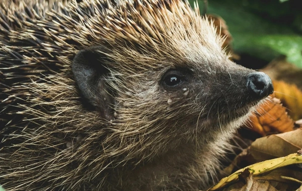
<svg viewBox="0 0 302 191"><path fill-rule="evenodd" d="M262 136L266 136L292 131L294 122L287 115L286 108L280 104L280 100L271 98L250 117L246 127Z"/></svg>

